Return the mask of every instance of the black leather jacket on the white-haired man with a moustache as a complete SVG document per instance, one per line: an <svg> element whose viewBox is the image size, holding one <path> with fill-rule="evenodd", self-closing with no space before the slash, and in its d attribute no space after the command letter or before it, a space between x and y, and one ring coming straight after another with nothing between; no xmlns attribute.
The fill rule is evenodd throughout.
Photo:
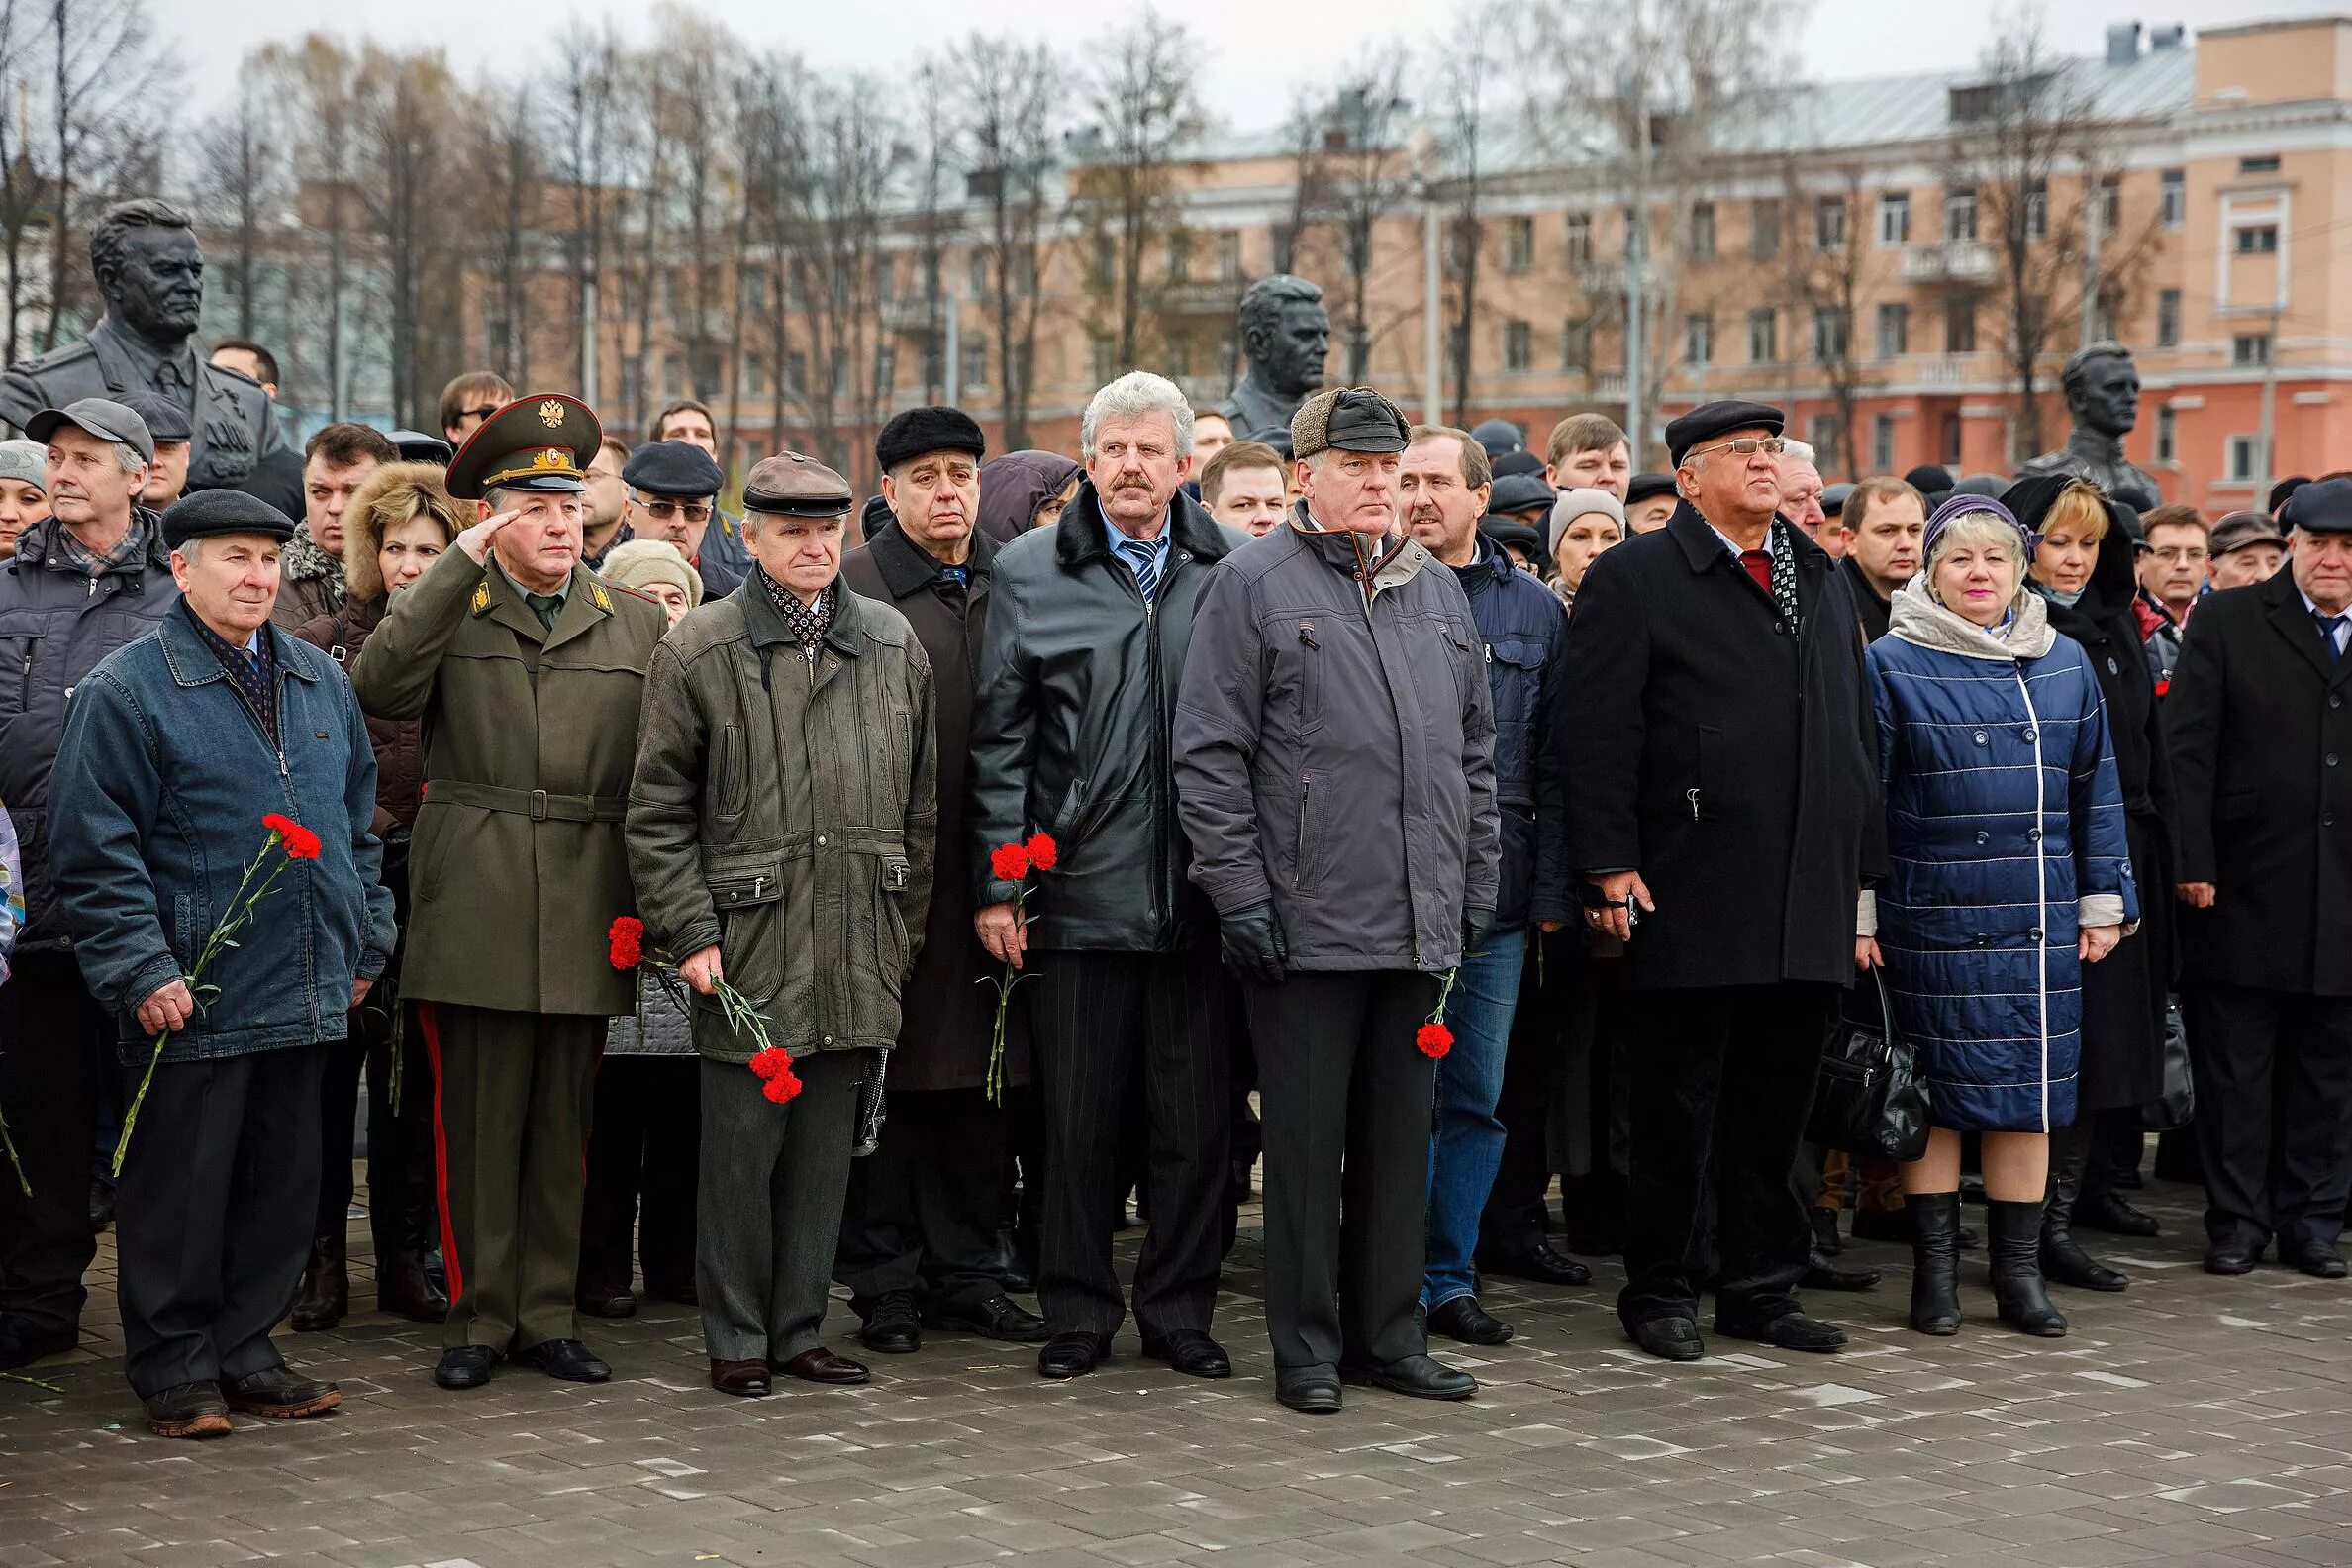
<svg viewBox="0 0 2352 1568"><path fill-rule="evenodd" d="M1171 505L1150 609L1091 482L995 562L971 693L971 889L983 907L1009 900L988 851L1054 835L1058 865L1028 884L1030 947L1176 952L1216 931L1185 877L1169 724L1209 569L1249 538L1185 494Z"/></svg>

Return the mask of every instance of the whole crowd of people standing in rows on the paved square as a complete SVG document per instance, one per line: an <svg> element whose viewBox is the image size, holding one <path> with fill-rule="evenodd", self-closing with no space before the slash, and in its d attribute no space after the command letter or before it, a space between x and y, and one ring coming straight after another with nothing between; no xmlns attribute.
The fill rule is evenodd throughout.
<svg viewBox="0 0 2352 1568"><path fill-rule="evenodd" d="M440 416L186 496L169 397L0 444L0 1368L113 1222L153 1432L334 1408L275 1331L353 1309L362 1079L374 1307L445 1389L604 1380L581 1319L642 1295L722 1394L866 1382L835 1284L870 1354L1080 1378L1134 1316L1228 1378L1261 1173L1303 1413L1472 1396L1432 1335L1571 1253L1670 1361L1705 1293L1839 1349L1849 1234L1924 1335L1980 1241L2063 1335L2051 1286L2129 1286L2079 1232L2157 1229L2183 1030L2206 1267L2345 1276L2352 475L2209 527L1823 487L1757 402L1635 473L1599 414L1538 454L1329 388L1237 440L1131 371L1075 458L917 407L863 508L783 451L729 512L699 402ZM1917 1159L1809 1140L1849 1027Z"/></svg>

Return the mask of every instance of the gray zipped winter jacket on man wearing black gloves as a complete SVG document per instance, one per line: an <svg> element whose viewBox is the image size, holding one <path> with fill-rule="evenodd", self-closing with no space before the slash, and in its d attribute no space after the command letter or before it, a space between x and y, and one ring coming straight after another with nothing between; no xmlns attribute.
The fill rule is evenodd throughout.
<svg viewBox="0 0 2352 1568"><path fill-rule="evenodd" d="M1192 882L1218 914L1272 898L1296 971L1454 969L1498 882L1470 602L1411 541L1367 602L1350 536L1296 524L1202 590L1174 733Z"/></svg>

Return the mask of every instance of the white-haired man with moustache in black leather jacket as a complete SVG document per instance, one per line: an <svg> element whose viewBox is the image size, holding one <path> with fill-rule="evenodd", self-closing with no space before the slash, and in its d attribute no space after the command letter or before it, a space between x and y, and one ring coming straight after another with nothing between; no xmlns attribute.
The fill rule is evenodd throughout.
<svg viewBox="0 0 2352 1568"><path fill-rule="evenodd" d="M1120 1126L1141 1081L1152 1229L1136 1260L1143 1354L1195 1378L1232 1363L1209 1338L1228 1147L1228 1018L1216 914L1185 879L1169 726L1209 569L1247 543L1183 494L1192 409L1174 381L1120 376L1080 421L1087 480L1051 529L995 562L971 698L981 943L1028 966L1044 1119L1037 1300L1047 1378L1110 1354ZM1000 877L990 851L1049 835L1054 865ZM946 893L941 893L946 896Z"/></svg>

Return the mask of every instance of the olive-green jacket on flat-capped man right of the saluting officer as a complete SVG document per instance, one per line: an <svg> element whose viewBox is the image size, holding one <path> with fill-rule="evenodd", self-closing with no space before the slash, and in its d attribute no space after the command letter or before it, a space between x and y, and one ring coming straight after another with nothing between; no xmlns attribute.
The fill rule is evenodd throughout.
<svg viewBox="0 0 2352 1568"><path fill-rule="evenodd" d="M647 943L717 943L793 1056L887 1051L931 905L934 790L931 661L896 609L842 588L814 658L757 578L687 611L647 672L628 790ZM694 1046L755 1048L708 997Z"/></svg>

